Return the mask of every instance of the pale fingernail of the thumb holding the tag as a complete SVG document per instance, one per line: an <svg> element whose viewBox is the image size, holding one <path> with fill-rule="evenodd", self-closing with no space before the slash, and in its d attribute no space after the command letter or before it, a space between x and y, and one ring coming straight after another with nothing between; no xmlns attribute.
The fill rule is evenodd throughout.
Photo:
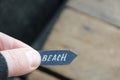
<svg viewBox="0 0 120 80"><path fill-rule="evenodd" d="M40 65L39 53L35 50L30 50L26 52L26 56L29 62L29 65L32 68L36 68Z"/></svg>

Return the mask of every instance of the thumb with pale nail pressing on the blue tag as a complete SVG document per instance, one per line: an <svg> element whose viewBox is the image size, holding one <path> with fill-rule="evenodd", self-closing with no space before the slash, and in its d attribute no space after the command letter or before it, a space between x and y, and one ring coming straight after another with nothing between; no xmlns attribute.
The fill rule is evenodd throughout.
<svg viewBox="0 0 120 80"><path fill-rule="evenodd" d="M40 65L40 54L32 48L18 48L0 52L8 65L8 77L20 76Z"/></svg>

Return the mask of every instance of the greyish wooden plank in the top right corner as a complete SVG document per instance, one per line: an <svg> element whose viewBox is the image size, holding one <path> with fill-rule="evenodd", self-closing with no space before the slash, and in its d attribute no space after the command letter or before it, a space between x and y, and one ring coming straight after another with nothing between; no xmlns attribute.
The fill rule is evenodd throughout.
<svg viewBox="0 0 120 80"><path fill-rule="evenodd" d="M70 0L68 5L120 27L120 0Z"/></svg>

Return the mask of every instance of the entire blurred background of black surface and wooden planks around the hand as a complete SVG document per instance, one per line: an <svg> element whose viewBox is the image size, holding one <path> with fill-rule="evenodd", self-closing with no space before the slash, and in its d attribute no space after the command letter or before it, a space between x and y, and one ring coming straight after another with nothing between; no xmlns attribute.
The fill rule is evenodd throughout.
<svg viewBox="0 0 120 80"><path fill-rule="evenodd" d="M78 55L10 80L120 80L119 0L1 0L0 31L37 50Z"/></svg>

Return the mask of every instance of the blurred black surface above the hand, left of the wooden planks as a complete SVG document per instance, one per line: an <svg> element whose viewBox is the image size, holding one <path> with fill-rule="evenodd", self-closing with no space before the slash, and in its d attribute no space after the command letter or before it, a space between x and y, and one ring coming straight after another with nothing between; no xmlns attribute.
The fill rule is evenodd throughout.
<svg viewBox="0 0 120 80"><path fill-rule="evenodd" d="M60 6L60 0L0 0L0 31L32 44Z"/></svg>

